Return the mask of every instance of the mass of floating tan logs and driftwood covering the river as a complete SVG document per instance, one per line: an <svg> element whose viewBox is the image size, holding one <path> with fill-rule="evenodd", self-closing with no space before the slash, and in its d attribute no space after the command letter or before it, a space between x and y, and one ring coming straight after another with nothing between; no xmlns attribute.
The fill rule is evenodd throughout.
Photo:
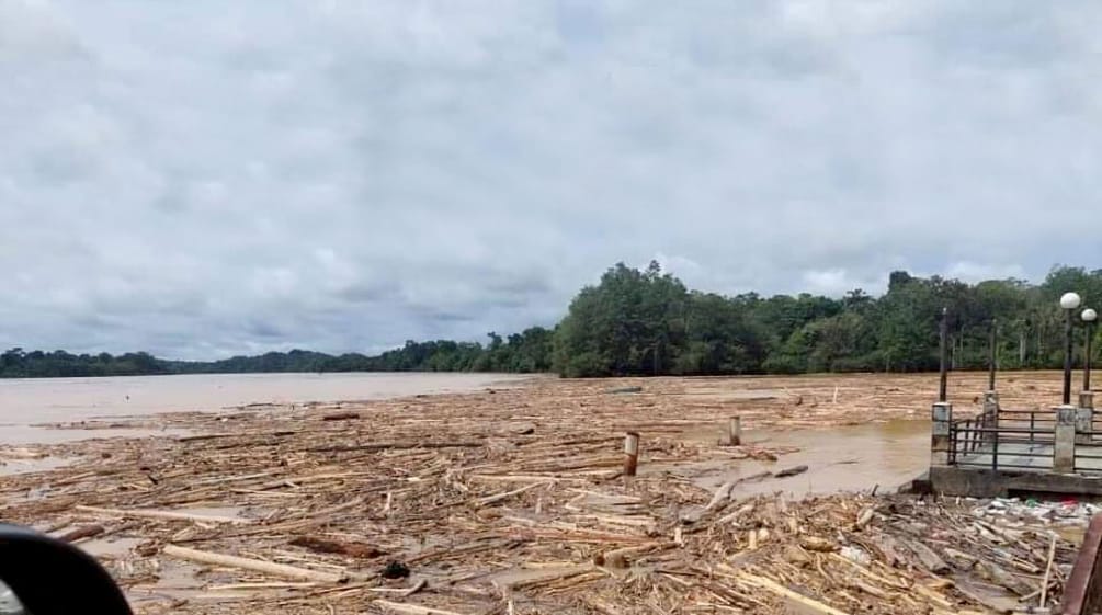
<svg viewBox="0 0 1102 615"><path fill-rule="evenodd" d="M958 411L977 409L982 387L954 375ZM1002 395L1030 407L1058 388L1058 375L1015 374ZM1051 603L1074 531L1049 569L1049 520L886 495L896 485L877 486L867 456L798 457L821 447L808 429L906 424L928 442L933 391L936 376L537 379L57 423L177 431L0 446L67 464L4 477L0 517L87 535L149 614L985 612L1037 605L1045 570ZM720 445L732 416L743 445ZM631 479L629 430L642 435ZM793 465L809 468L775 476ZM866 472L856 486L829 478ZM864 493L808 495L839 487Z"/></svg>

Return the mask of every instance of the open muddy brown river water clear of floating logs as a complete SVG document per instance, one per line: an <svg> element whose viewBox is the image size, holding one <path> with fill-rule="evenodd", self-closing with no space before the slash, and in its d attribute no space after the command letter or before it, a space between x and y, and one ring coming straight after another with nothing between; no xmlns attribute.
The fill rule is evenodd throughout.
<svg viewBox="0 0 1102 615"><path fill-rule="evenodd" d="M177 435L179 430L48 429L42 423L162 412L209 411L251 403L366 400L469 392L518 386L528 377L500 374L257 374L0 380L0 474L48 470L67 463L19 458L14 446L88 438ZM747 443L795 447L777 462L709 461L663 468L704 488L764 472L807 465L789 478L744 481L739 495L784 492L795 497L838 490L895 489L929 463L928 421L888 421L798 431L746 431Z"/></svg>

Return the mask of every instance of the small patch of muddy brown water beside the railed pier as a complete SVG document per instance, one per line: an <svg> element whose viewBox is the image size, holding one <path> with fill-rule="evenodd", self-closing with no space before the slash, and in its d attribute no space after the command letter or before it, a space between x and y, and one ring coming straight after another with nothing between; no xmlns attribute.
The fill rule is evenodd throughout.
<svg viewBox="0 0 1102 615"><path fill-rule="evenodd" d="M739 481L736 497L784 493L792 497L877 487L895 490L929 467L929 421L886 421L863 425L799 431L746 431L743 440L763 446L799 449L776 462L754 460L709 461L684 464L672 472L706 489ZM808 466L788 478L754 479L769 472Z"/></svg>

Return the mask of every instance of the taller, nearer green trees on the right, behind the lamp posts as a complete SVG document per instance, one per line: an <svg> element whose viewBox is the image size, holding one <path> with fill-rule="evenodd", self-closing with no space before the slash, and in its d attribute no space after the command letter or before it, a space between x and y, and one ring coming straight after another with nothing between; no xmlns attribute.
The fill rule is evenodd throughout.
<svg viewBox="0 0 1102 615"><path fill-rule="evenodd" d="M688 292L657 266L641 272L617 265L571 303L554 366L570 377L932 370L944 309L954 368L986 366L996 322L1002 367L1052 368L1063 331L1056 305L1068 290L1102 305L1102 270L1058 267L1039 287L895 271L879 299L854 290L834 300Z"/></svg>

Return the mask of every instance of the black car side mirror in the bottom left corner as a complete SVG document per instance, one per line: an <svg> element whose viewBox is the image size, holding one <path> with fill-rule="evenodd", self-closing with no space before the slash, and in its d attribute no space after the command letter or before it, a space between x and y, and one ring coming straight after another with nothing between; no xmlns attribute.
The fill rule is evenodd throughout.
<svg viewBox="0 0 1102 615"><path fill-rule="evenodd" d="M132 615L122 591L76 547L0 525L0 614Z"/></svg>

